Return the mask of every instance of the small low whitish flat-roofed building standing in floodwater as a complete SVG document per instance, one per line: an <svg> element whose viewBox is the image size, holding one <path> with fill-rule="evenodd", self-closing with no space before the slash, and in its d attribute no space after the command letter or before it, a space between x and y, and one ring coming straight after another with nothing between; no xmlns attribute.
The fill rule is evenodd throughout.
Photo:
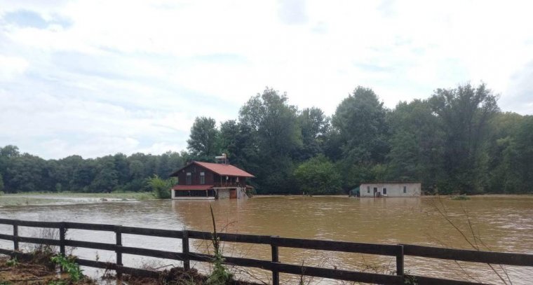
<svg viewBox="0 0 533 285"><path fill-rule="evenodd" d="M420 197L420 182L372 182L359 186L360 197Z"/></svg>

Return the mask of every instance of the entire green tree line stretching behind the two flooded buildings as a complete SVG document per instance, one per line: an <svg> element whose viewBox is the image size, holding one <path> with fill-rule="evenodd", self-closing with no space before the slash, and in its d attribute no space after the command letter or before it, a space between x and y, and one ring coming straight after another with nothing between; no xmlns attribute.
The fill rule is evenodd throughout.
<svg viewBox="0 0 533 285"><path fill-rule="evenodd" d="M149 176L227 153L264 194L346 193L363 181L421 181L426 193L532 193L533 116L501 112L497 99L484 84L465 84L387 109L359 86L327 116L267 88L235 120L196 118L181 153L43 160L5 146L0 190L143 190Z"/></svg>

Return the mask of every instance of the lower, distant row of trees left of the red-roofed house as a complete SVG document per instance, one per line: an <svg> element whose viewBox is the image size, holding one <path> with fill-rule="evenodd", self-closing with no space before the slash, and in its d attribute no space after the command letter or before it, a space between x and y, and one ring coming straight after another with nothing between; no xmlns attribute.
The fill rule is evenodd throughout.
<svg viewBox="0 0 533 285"><path fill-rule="evenodd" d="M95 159L71 155L43 160L21 154L15 146L4 146L0 147L0 188L3 184L6 193L142 192L147 190L148 177L168 177L184 165L184 160L182 154L170 151L161 155L117 153Z"/></svg>

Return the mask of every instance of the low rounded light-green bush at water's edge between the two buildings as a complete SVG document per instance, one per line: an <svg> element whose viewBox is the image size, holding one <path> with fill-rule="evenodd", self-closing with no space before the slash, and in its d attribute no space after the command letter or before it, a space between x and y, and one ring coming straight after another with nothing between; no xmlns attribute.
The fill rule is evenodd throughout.
<svg viewBox="0 0 533 285"><path fill-rule="evenodd" d="M297 186L310 195L338 194L341 176L324 155L306 160L295 170Z"/></svg>

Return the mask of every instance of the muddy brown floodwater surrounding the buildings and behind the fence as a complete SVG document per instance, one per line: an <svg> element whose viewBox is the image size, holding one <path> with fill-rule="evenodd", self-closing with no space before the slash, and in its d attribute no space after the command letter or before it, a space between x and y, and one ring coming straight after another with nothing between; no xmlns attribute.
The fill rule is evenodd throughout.
<svg viewBox="0 0 533 285"><path fill-rule="evenodd" d="M0 208L1 218L32 221L76 221L108 223L145 228L211 231L209 211L212 205L217 229L257 235L279 235L307 239L330 239L379 244L420 244L472 249L466 239L480 249L533 254L533 196L473 197L454 201L447 197L422 198L348 198L348 197L254 197L248 200L150 200L145 202L100 202L93 204L58 204ZM440 213L437 210L440 209ZM454 228L446 218L464 234ZM470 221L470 225L468 223ZM1 233L11 234L11 226L0 225ZM38 236L34 228L21 228L21 235ZM475 235L475 238L473 237ZM92 242L114 242L114 233L69 230L67 238ZM125 246L180 251L180 239L123 235ZM191 251L207 252L209 242L191 240ZM0 241L12 249L13 244ZM81 258L114 261L114 253L74 249ZM270 246L224 244L224 255L269 260ZM357 253L280 249L283 263L346 270L390 273L395 258ZM152 260L124 255L126 266L163 267L180 265L173 260ZM191 263L202 271L205 263ZM532 267L495 269L513 284L531 284ZM90 269L86 269L92 272ZM270 272L252 268L234 268L238 276L270 281ZM244 271L242 271L244 270ZM405 257L405 272L430 277L464 279L503 284L488 265L456 263L431 258ZM508 275L508 277L507 277ZM299 276L281 274L285 284L297 284ZM335 284L335 281L306 278L306 284ZM340 283L340 282L339 282Z"/></svg>

